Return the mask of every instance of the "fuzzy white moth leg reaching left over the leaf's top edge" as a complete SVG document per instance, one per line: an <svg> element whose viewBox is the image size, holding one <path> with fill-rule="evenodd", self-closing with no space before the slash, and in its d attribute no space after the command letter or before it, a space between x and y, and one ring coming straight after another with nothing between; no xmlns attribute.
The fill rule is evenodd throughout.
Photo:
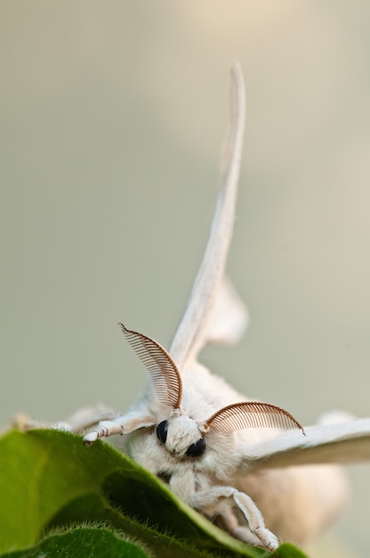
<svg viewBox="0 0 370 558"><path fill-rule="evenodd" d="M117 434L128 434L129 432L136 431L140 428L153 426L156 421L152 416L129 413L117 416L113 421L101 421L93 429L84 436L84 443L87 445L93 444L97 439L108 438Z"/></svg>

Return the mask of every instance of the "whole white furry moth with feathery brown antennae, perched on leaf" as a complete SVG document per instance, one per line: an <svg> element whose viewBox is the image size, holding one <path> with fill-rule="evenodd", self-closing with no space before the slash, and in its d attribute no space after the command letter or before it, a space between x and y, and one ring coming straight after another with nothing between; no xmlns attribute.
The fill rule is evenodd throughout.
<svg viewBox="0 0 370 558"><path fill-rule="evenodd" d="M68 428L82 431L110 418L84 442L123 434L124 451L177 496L233 536L274 549L277 537L306 542L342 511L347 482L334 463L370 458L370 419L327 415L303 431L285 410L249 401L197 361L207 343L233 343L246 324L245 306L224 276L245 118L237 63L229 106L211 233L171 348L120 324L149 372L149 385L127 414L80 412Z"/></svg>

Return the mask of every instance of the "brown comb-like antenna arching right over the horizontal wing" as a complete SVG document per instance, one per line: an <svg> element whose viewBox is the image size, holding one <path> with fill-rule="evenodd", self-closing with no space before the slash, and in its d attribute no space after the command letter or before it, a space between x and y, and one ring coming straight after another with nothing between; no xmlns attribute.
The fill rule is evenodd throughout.
<svg viewBox="0 0 370 558"><path fill-rule="evenodd" d="M301 424L284 409L254 401L224 406L207 420L205 428L224 434L245 428L299 428L304 434Z"/></svg>

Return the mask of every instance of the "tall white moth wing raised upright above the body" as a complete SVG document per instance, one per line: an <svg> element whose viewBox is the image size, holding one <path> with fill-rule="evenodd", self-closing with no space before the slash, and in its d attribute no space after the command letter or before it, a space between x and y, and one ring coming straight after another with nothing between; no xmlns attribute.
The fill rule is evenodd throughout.
<svg viewBox="0 0 370 558"><path fill-rule="evenodd" d="M245 306L223 280L234 225L244 121L244 81L235 62L231 67L229 128L221 160L221 190L205 255L169 351L181 372L197 358L206 343L236 341L245 328Z"/></svg>

